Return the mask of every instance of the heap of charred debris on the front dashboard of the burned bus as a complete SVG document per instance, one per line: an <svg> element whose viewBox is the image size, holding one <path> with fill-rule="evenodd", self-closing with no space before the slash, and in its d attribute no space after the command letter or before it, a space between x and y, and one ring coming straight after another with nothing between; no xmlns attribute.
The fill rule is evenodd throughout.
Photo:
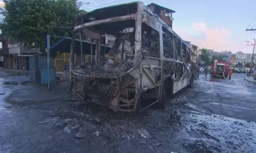
<svg viewBox="0 0 256 153"><path fill-rule="evenodd" d="M133 67L133 61L121 60L116 57L105 58L99 64L83 63L74 69L80 75L120 77Z"/></svg>

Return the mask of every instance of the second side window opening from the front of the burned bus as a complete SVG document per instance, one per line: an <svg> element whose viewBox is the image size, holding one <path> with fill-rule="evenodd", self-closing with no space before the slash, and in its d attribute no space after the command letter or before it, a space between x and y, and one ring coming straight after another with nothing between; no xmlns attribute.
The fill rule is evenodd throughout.
<svg viewBox="0 0 256 153"><path fill-rule="evenodd" d="M174 58L173 34L163 27L163 55L165 58Z"/></svg>

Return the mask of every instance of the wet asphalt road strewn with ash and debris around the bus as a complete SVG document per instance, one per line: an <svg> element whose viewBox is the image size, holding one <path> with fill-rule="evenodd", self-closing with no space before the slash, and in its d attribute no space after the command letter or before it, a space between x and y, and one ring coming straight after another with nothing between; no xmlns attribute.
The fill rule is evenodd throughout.
<svg viewBox="0 0 256 153"><path fill-rule="evenodd" d="M244 81L245 75L200 76L164 110L139 116L67 98L7 104L8 94L26 88L26 79L0 78L0 152L256 152L256 85ZM174 109L183 116L181 125L169 118Z"/></svg>

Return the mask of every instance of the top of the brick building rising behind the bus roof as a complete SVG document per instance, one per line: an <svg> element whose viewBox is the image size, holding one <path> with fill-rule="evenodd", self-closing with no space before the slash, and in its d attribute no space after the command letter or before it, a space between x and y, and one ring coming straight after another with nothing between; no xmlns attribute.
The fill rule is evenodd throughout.
<svg viewBox="0 0 256 153"><path fill-rule="evenodd" d="M170 28L173 29L173 13L174 10L159 6L155 3L148 4L147 7L151 8L153 13L157 14Z"/></svg>

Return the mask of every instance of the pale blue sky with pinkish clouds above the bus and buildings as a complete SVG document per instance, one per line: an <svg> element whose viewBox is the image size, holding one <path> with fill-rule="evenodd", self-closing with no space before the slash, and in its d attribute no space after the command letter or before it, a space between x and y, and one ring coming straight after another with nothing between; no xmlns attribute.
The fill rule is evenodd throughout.
<svg viewBox="0 0 256 153"><path fill-rule="evenodd" d="M0 0L0 4L1 4ZM134 2L131 0L81 0L81 9L92 11L100 7ZM252 53L247 42L256 39L255 0L142 0L144 5L158 5L175 10L173 30L185 41L214 49L217 52L231 51Z"/></svg>

